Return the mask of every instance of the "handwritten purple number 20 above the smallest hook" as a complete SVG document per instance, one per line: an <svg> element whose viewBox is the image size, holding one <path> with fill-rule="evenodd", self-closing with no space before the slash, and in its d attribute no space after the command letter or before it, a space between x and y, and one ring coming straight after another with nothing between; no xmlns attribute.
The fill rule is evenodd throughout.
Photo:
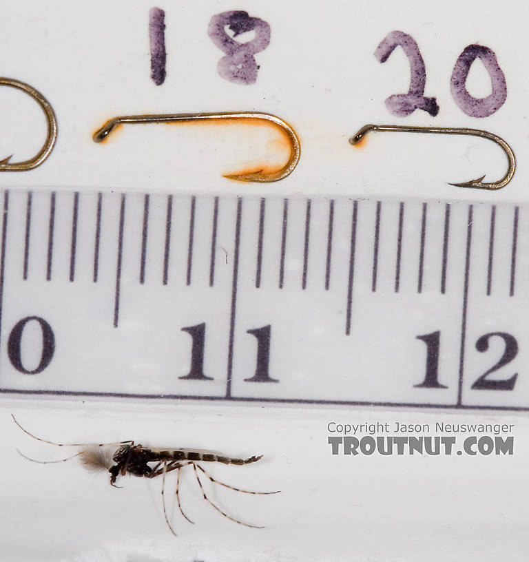
<svg viewBox="0 0 529 562"><path fill-rule="evenodd" d="M411 35L402 31L388 33L375 50L377 61L385 63L399 45L410 63L410 87L407 94L389 96L386 99L386 107L391 114L398 117L411 115L415 110L423 110L433 117L436 116L439 105L435 98L424 97L426 67L419 47ZM475 98L466 89L468 72L476 59L481 60L490 76L492 92L485 98ZM495 52L482 45L468 45L455 63L450 78L450 92L459 109L470 117L488 117L497 112L506 101L507 85Z"/></svg>

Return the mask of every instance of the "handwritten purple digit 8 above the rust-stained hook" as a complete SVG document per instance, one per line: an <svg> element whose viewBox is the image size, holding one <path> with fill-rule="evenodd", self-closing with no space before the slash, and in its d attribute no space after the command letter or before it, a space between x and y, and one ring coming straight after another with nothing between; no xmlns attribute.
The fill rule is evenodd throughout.
<svg viewBox="0 0 529 562"><path fill-rule="evenodd" d="M233 32L234 37L252 30L256 32L256 37L247 43L239 43L229 37L226 27ZM262 19L249 17L248 12L234 10L214 15L209 21L207 33L211 41L226 53L218 61L218 74L230 82L255 83L259 67L253 55L268 47L270 25Z"/></svg>

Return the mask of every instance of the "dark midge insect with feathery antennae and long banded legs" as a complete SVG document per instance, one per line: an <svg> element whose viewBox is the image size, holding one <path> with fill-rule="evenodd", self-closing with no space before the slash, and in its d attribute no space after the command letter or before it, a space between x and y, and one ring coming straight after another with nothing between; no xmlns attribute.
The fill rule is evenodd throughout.
<svg viewBox="0 0 529 562"><path fill-rule="evenodd" d="M165 475L167 472L172 472L176 470L176 500L178 501L178 509L180 513L189 521L193 523L189 517L183 512L182 506L180 505L180 469L185 466L191 465L194 470L196 481L200 487L200 492L202 492L203 498L209 503L210 506L215 508L219 513L227 517L230 521L234 523L240 523L240 525L245 525L246 527L253 527L256 529L262 529L262 526L251 525L249 523L243 523L234 517L231 517L227 513L223 512L216 504L207 497L207 494L202 486L202 481L200 481L200 476L198 475L198 470L205 475L212 483L218 484L219 486L224 486L230 490L236 492L242 492L243 494L258 494L258 495L271 495L278 494L280 490L276 492L252 492L250 490L241 490L240 488L235 488L224 482L220 482L214 477L212 477L200 464L199 461L203 462L218 462L222 464L251 464L257 462L262 458L262 455L254 455L248 459L237 459L234 457L226 457L222 453L214 451L205 450L194 450L185 448L154 448L154 447L144 447L141 444L135 444L132 439L127 441L116 441L114 443L99 443L99 444L85 444L85 443L55 443L54 441L48 441L48 439L41 439L30 433L27 429L23 428L21 424L17 421L14 415L11 414L13 421L21 430L26 434L37 439L37 441L42 441L43 443L48 443L50 445L55 445L58 447L82 447L83 449L77 452L72 457L66 457L65 459L58 459L55 461L39 461L37 459L31 459L26 457L22 452L19 452L23 458L28 459L28 461L37 462L39 464L50 464L69 461L75 457L79 457L81 464L86 470L90 472L97 472L98 470L108 470L110 472L110 484L114 488L122 488L122 486L116 486L116 480L119 476L125 476L126 474L145 477L145 478L156 478L158 476L162 477L162 504L163 504L163 515L165 517L165 522L171 530L172 534L176 537L176 532L172 528L169 518L167 517L167 510L165 509ZM118 446L117 449L113 447Z"/></svg>

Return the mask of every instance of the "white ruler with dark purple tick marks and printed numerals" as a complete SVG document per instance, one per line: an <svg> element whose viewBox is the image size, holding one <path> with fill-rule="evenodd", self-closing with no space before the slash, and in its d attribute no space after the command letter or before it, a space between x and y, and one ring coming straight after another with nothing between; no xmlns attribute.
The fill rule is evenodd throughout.
<svg viewBox="0 0 529 562"><path fill-rule="evenodd" d="M1 392L529 410L525 207L4 191Z"/></svg>

